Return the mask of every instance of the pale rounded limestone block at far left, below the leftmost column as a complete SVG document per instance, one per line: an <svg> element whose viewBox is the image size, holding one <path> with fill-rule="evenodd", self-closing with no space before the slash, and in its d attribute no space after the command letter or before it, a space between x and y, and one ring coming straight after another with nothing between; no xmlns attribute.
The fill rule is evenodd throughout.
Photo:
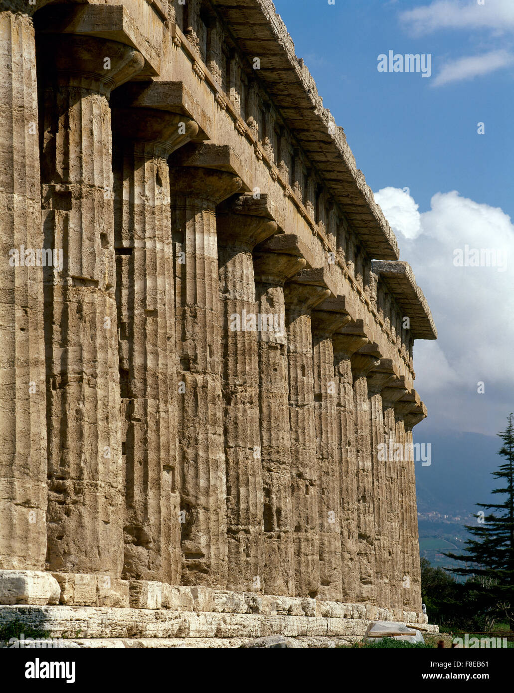
<svg viewBox="0 0 514 693"><path fill-rule="evenodd" d="M0 604L57 604L60 587L39 570L0 570Z"/></svg>

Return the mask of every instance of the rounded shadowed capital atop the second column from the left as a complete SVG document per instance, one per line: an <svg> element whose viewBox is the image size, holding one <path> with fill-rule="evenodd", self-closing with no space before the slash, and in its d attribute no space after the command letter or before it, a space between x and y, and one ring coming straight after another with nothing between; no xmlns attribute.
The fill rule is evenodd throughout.
<svg viewBox="0 0 514 693"><path fill-rule="evenodd" d="M48 83L98 91L107 98L145 64L132 46L96 36L39 34L36 49Z"/></svg>

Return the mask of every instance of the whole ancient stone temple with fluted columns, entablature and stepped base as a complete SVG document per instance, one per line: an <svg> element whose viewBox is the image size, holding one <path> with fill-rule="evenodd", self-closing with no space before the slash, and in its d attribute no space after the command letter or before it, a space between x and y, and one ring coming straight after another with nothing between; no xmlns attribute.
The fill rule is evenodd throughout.
<svg viewBox="0 0 514 693"><path fill-rule="evenodd" d="M0 10L0 624L433 629L434 323L271 0Z"/></svg>

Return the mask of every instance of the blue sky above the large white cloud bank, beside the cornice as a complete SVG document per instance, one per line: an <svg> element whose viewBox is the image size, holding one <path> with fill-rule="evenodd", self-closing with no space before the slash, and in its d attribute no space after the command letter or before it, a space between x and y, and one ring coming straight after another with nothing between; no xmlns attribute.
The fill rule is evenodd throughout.
<svg viewBox="0 0 514 693"><path fill-rule="evenodd" d="M505 21L499 10L507 5L514 10L514 0L485 1L485 6L478 6L477 0L445 3L450 8L460 6L464 12L475 10L475 16L463 14L460 22L457 16L457 26L440 26L426 33L419 32L415 18L403 13L432 6L437 18L448 12L444 5L335 0L331 6L326 0L275 1L294 40L296 55L305 60L325 107L344 128L357 166L373 191L407 186L423 212L429 209L435 192L457 190L514 216L513 64L508 67L514 51L514 11L510 31L499 30L508 27L510 17ZM497 21L486 19L486 12ZM480 26L481 14L493 26ZM423 15L419 24L432 26ZM378 55L390 49L432 54L432 77L379 73ZM496 54L496 62L492 54ZM477 55L488 55L491 64L504 62L506 67L433 86L445 64ZM483 136L477 134L479 122L485 123Z"/></svg>

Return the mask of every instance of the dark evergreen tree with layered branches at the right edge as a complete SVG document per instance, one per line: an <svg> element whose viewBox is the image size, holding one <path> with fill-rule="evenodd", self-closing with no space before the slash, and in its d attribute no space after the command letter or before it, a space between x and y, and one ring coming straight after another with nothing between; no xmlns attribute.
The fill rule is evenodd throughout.
<svg viewBox="0 0 514 693"><path fill-rule="evenodd" d="M514 414L509 414L506 430L499 433L503 441L498 451L505 462L493 477L502 480L493 493L504 496L504 502L477 503L490 511L476 514L477 526L466 525L474 536L466 542L466 554L444 554L448 558L464 561L463 568L451 572L465 575L466 591L477 611L491 623L506 618L514 630Z"/></svg>

